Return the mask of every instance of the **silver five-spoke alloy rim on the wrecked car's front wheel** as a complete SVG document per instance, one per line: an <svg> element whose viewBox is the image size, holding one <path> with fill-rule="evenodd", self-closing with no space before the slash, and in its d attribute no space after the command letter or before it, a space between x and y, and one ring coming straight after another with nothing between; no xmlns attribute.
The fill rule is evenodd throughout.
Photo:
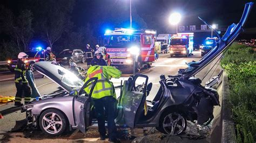
<svg viewBox="0 0 256 143"><path fill-rule="evenodd" d="M41 124L44 131L50 134L57 134L63 127L62 118L54 112L46 113L42 118Z"/></svg>

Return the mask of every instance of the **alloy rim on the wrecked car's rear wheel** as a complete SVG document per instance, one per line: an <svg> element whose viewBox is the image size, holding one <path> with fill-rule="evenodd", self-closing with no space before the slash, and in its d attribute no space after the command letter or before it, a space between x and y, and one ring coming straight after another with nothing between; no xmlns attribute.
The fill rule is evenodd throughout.
<svg viewBox="0 0 256 143"><path fill-rule="evenodd" d="M167 134L178 135L186 130L186 119L180 113L169 113L164 117L163 128Z"/></svg>

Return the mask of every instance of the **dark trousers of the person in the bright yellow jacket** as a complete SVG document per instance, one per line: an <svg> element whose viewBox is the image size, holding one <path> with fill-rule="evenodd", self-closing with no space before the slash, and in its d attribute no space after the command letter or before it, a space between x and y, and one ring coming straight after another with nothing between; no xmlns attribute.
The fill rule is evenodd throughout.
<svg viewBox="0 0 256 143"><path fill-rule="evenodd" d="M109 131L109 139L117 138L117 127L116 123L114 123L114 103L116 99L112 96L106 96L100 99L93 99L95 102L95 111L98 120L98 131L100 135L106 134L105 129L105 116L104 116L104 108L107 113L107 130Z"/></svg>

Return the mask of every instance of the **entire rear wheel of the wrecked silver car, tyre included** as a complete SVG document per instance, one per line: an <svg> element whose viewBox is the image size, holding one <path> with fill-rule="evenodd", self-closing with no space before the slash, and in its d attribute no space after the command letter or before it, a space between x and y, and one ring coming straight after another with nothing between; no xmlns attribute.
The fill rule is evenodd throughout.
<svg viewBox="0 0 256 143"><path fill-rule="evenodd" d="M179 135L186 130L187 120L181 112L167 112L160 118L157 130L164 134Z"/></svg>

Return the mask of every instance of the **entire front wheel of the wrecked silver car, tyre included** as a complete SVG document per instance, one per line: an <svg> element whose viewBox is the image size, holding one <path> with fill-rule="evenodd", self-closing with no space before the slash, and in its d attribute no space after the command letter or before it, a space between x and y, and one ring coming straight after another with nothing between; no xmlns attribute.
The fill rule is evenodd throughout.
<svg viewBox="0 0 256 143"><path fill-rule="evenodd" d="M45 134L56 136L65 132L67 120L59 110L48 109L41 114L39 126Z"/></svg>

